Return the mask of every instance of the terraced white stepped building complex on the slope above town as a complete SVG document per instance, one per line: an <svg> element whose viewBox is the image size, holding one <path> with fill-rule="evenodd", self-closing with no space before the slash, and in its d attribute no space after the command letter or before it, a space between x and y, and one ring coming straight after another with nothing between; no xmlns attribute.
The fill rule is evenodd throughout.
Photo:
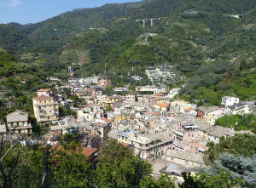
<svg viewBox="0 0 256 188"><path fill-rule="evenodd" d="M146 69L146 75L152 83L172 83L177 81L177 74L173 71L172 66L155 66Z"/></svg>

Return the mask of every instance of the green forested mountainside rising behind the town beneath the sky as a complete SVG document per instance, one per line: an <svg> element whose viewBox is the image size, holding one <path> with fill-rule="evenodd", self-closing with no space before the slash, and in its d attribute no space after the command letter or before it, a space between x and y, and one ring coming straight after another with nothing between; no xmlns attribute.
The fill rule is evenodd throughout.
<svg viewBox="0 0 256 188"><path fill-rule="evenodd" d="M134 86L149 83L146 67L172 65L186 79L168 85L185 83L187 100L219 105L226 94L255 100L255 4L144 0L77 9L37 24L1 25L0 46L49 76L67 77L71 64L79 75L102 75L106 64L114 86ZM156 17L165 18L153 27L136 21ZM143 82L132 82L131 73Z"/></svg>

